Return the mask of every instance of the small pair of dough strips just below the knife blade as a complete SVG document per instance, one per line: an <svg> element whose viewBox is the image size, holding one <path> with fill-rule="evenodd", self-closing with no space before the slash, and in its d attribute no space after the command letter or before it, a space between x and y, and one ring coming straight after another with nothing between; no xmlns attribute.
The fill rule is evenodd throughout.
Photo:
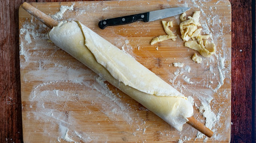
<svg viewBox="0 0 256 143"><path fill-rule="evenodd" d="M161 41L168 40L168 39L172 39L173 41L175 41L175 38L177 38L173 34L172 30L170 30L170 28L169 28L169 27L173 27L172 21L169 21L168 23L166 21L162 21L162 25L163 25L163 29L167 35L160 35L158 37L153 38L151 40L150 45L154 45L157 42L161 42Z"/></svg>

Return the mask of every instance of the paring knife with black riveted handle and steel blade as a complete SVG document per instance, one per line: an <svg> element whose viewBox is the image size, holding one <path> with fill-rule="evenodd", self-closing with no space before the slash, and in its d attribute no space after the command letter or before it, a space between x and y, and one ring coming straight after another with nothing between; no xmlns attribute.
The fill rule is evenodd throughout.
<svg viewBox="0 0 256 143"><path fill-rule="evenodd" d="M190 8L186 8L186 7L161 9L161 10L150 11L150 12L145 12L140 14L101 20L98 25L100 29L105 29L107 26L130 24L136 21L150 22L150 21L163 19L166 17L175 16L189 9Z"/></svg>

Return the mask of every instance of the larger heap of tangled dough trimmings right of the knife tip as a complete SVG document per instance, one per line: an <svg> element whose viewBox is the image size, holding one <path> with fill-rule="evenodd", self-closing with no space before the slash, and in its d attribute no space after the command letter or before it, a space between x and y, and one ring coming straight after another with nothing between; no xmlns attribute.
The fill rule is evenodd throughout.
<svg viewBox="0 0 256 143"><path fill-rule="evenodd" d="M211 37L211 35L201 35L202 28L197 28L197 26L201 26L198 22L200 11L195 11L192 17L188 17L188 20L184 18L185 16L186 13L183 13L180 16L182 21L180 24L181 38L183 41L186 41L185 46L197 50L204 57L210 57L215 54L215 44L206 40ZM192 39L193 41L189 41L189 39ZM203 39L205 41L203 41Z"/></svg>

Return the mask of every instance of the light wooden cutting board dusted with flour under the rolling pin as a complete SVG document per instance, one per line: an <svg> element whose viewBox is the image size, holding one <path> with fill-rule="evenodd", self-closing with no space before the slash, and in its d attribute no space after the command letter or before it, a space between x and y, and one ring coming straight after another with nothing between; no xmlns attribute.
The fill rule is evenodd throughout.
<svg viewBox="0 0 256 143"><path fill-rule="evenodd" d="M31 3L47 15L80 21L130 54L193 103L194 117L214 131L207 138L188 124L181 132L113 87L53 43L50 30L19 8L20 74L24 142L229 142L231 96L231 7L227 0L86 1ZM62 8L61 8L62 6ZM212 34L216 54L198 64L184 47L179 16L176 41L150 45L166 35L161 20L98 28L100 20L171 7L201 11L203 34ZM62 9L60 11L60 8ZM68 8L66 11L63 8ZM61 17L62 16L62 17ZM182 62L184 67L174 67Z"/></svg>

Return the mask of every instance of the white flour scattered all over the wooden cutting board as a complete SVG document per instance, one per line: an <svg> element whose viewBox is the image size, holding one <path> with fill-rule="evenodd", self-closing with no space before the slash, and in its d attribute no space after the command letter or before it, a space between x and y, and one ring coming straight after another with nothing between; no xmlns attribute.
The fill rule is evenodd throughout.
<svg viewBox="0 0 256 143"><path fill-rule="evenodd" d="M225 124L220 123L220 120L223 120L221 117L223 117L223 114L226 114L226 110L229 107L225 105L224 108L218 107L217 105L221 103L219 103L220 101L218 101L218 99L215 99L217 95L223 95L227 98L230 94L230 91L221 90L221 87L224 85L225 81L227 81L227 78L231 78L229 72L231 68L231 66L229 66L230 61L227 63L227 60L230 59L230 57L226 50L230 47L227 47L225 44L227 41L225 41L224 38L221 38L225 34L224 26L230 27L230 25L223 25L222 23L224 22L224 19L221 19L220 16L216 14L218 12L216 9L219 9L219 7L206 7L205 5L207 2L208 0L179 0L179 3L177 3L176 6L192 7L194 10L200 10L202 15L206 17L206 21L203 21L203 18L201 18L201 24L204 29L203 32L213 35L212 40L215 43L220 43L219 45L216 45L219 49L217 48L215 56L205 60L205 63L207 64L200 65L199 68L205 70L204 75L198 75L197 71L191 68L193 67L193 64L187 62L184 62L186 66L176 68L176 71L172 71L168 74L170 75L169 82L173 87L180 90L186 96L192 95L188 96L188 100L195 104L199 110L194 112L194 117L203 116L202 122L205 121L205 125L212 129L215 134L212 138L208 139L207 137L204 137L203 134L198 133L197 137L194 138L195 134L191 133L195 133L195 130L184 129L184 131L180 133L180 139L178 140L180 143L189 140L200 140L204 142L214 139L221 140L223 139L221 132L226 133L230 127L228 120ZM222 3L222 1L217 1L217 4L218 3ZM87 7L76 11L76 14L85 15L88 10L96 10L96 7L99 6L99 4L100 3L89 4ZM61 6L60 11L52 15L52 17L55 20L62 20L65 11L74 10L74 5L75 4L72 4L71 6ZM164 5L164 7L168 8L167 5ZM208 16L205 14L206 8L209 8L211 15ZM102 11L108 12L111 9L111 7L104 7L102 8ZM177 21L176 24L179 24L179 16L176 16L175 19ZM35 118L38 122L43 123L42 129L44 130L44 133L51 138L54 138L53 142L55 142L56 139L59 142L62 140L68 142L99 142L102 141L102 139L99 139L99 137L102 136L102 132L96 133L96 130L91 131L90 129L100 126L101 123L99 124L99 122L96 122L95 126L92 126L93 123L84 123L84 126L89 127L89 129L77 126L78 122L80 123L83 121L76 119L76 114L69 111L70 108L68 103L74 103L80 108L83 108L84 111L81 115L86 119L97 119L97 117L99 117L92 112L93 109L91 109L91 107L94 106L99 111L97 113L100 113L100 117L104 117L105 121L112 123L113 128L116 130L120 130L121 126L128 124L131 126L130 133L132 135L137 138L144 138L144 136L141 135L147 135L147 132L150 131L146 129L147 124L143 120L144 117L140 117L139 114L137 116L132 116L137 113L137 111L134 110L134 107L123 102L123 96L119 95L119 93L114 94L113 92L115 89L112 89L113 92L110 91L108 87L109 85L105 83L104 79L97 76L91 70L84 68L82 64L76 63L74 65L74 63L67 63L66 61L54 58L56 55L62 53L62 51L53 47L51 43L46 42L47 38L45 31L48 31L48 28L41 23L37 23L34 18L31 18L31 22L25 22L20 29L20 35L23 36L20 41L21 69L27 69L31 64L35 65L34 69L30 69L28 73L21 78L26 83L39 81L38 84L33 87L29 95L30 105L28 105L28 108L32 110L27 112L27 117ZM123 31L127 31L127 29L124 28ZM112 32L113 35L118 37L118 32ZM150 32L150 30L147 32ZM137 33L142 34L136 32L136 34ZM178 38L180 39L179 35ZM137 58L136 54L133 53L133 47L135 46L132 45L130 39L128 40L127 37L119 36L114 42L116 43L113 44L117 47L121 47L123 51L135 59ZM34 43L35 45L33 45ZM27 48L31 45L34 47L31 49ZM179 46L179 44L177 45ZM145 51L145 48L139 45L136 47L138 47L138 50L141 52ZM156 50L158 50L158 47ZM45 56L45 53L47 52L53 54L51 56ZM196 80L198 78L201 80ZM190 81L191 79L193 79L193 82ZM96 82L91 82L90 80ZM83 87L84 91L88 92L81 92L68 88L75 86ZM205 89L205 91L194 91L193 86L199 86L200 88ZM95 92L97 93L97 96L91 97L90 93ZM147 109L141 108L141 110L147 112ZM125 122L123 122L124 120ZM51 127L47 124L51 125ZM223 127L226 129L221 129ZM52 134L54 133L53 131L55 131L54 128L59 129L59 134ZM97 128L99 131L102 129L104 128ZM191 130L194 132L191 132ZM139 135L139 133L141 133L141 135ZM164 132L161 132L159 135L171 136L171 138L177 137L170 132L163 133ZM111 135L106 134L104 136L104 142L107 142L108 137L110 136ZM203 140L201 138L203 138Z"/></svg>

